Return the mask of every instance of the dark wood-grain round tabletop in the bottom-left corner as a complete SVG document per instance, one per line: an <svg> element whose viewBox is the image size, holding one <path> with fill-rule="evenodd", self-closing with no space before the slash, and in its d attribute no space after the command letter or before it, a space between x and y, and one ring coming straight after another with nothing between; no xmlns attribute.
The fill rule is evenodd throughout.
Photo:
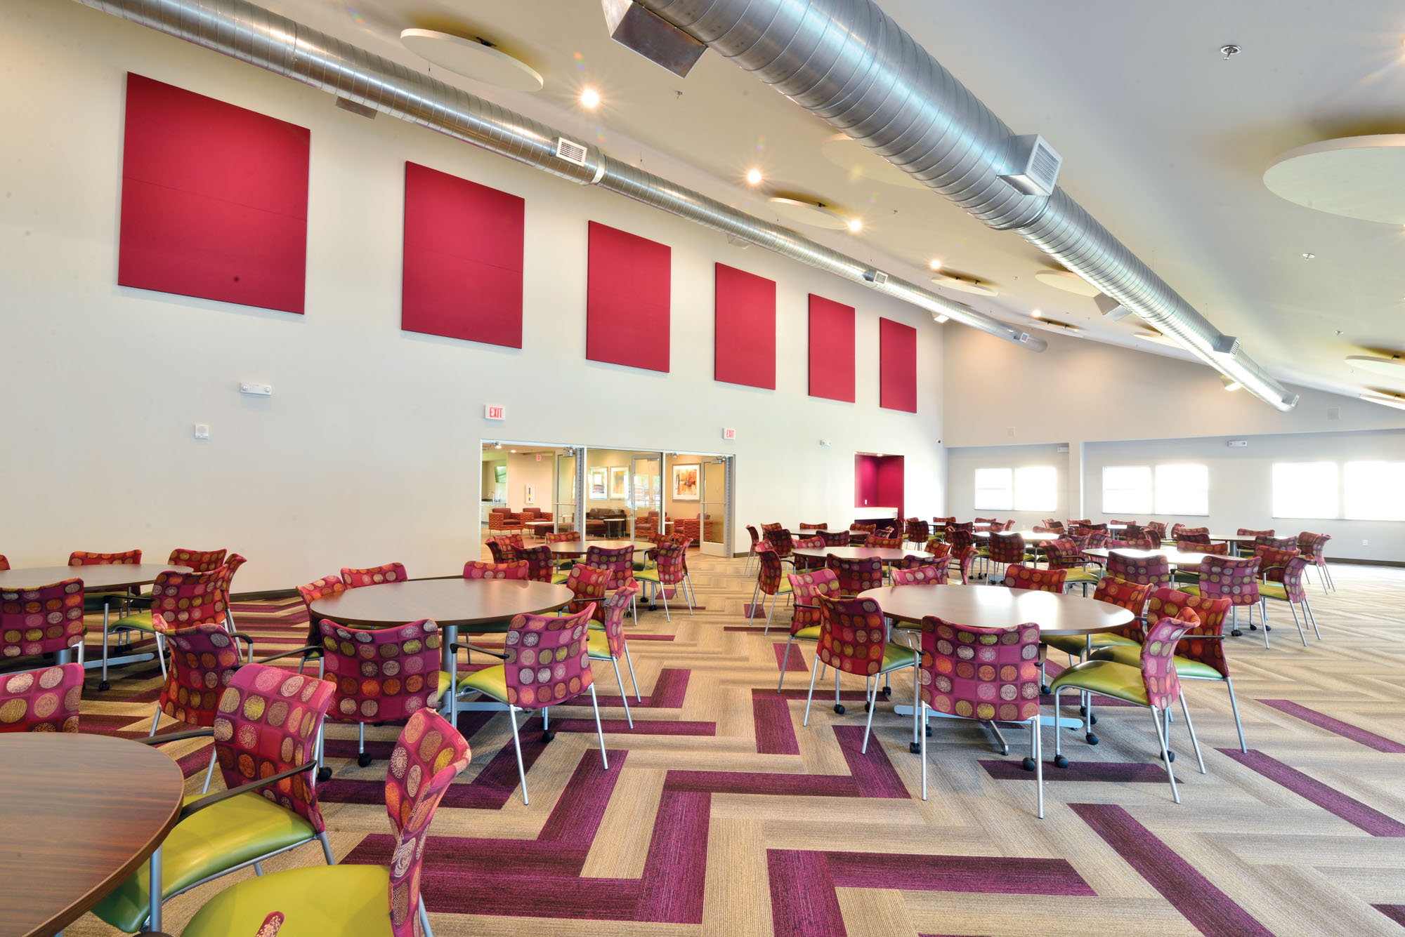
<svg viewBox="0 0 1405 937"><path fill-rule="evenodd" d="M169 755L108 735L0 735L0 934L52 934L117 888L176 826Z"/></svg>

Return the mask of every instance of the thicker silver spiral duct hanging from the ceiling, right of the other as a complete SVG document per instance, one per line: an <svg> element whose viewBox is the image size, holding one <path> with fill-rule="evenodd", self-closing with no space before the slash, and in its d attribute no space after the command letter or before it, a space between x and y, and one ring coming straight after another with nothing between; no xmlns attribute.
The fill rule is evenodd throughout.
<svg viewBox="0 0 1405 937"><path fill-rule="evenodd" d="M635 3L991 227L1016 231L1253 396L1297 404L1062 189L1024 195L1000 180L1014 132L873 0Z"/></svg>

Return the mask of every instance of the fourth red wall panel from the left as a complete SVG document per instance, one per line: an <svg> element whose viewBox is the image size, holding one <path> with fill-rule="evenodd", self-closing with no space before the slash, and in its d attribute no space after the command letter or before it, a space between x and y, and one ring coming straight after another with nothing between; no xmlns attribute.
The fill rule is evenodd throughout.
<svg viewBox="0 0 1405 937"><path fill-rule="evenodd" d="M712 377L776 390L776 281L717 265Z"/></svg>

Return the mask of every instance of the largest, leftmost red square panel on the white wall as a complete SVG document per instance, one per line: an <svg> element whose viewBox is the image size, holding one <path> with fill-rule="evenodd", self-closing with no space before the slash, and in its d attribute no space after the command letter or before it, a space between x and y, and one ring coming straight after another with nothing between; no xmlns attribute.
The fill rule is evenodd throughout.
<svg viewBox="0 0 1405 937"><path fill-rule="evenodd" d="M117 282L301 313L309 137L128 73Z"/></svg>

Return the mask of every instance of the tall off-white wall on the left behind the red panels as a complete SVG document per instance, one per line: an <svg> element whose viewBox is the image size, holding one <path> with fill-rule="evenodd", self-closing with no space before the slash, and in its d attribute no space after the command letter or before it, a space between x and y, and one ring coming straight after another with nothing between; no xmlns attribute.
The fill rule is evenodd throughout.
<svg viewBox="0 0 1405 937"><path fill-rule="evenodd" d="M847 518L853 453L902 453L910 512L941 511L943 330L919 310L73 3L3 4L0 60L0 550L17 567L221 546L249 557L236 591L388 560L451 574L478 555L485 438L735 452L739 523ZM305 316L115 285L126 70L311 128ZM399 330L405 160L525 198L521 351ZM584 360L592 219L672 245L670 375ZM778 283L776 391L712 380L715 261ZM806 397L812 290L858 310L856 404ZM917 415L878 407L880 314L917 327Z"/></svg>

